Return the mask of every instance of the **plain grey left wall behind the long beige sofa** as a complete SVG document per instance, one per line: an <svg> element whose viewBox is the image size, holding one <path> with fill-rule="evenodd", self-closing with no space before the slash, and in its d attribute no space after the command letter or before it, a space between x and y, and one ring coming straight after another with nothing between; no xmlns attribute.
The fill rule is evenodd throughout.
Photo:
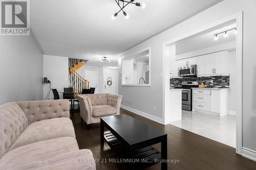
<svg viewBox="0 0 256 170"><path fill-rule="evenodd" d="M30 36L0 36L0 104L42 100L42 52Z"/></svg>

